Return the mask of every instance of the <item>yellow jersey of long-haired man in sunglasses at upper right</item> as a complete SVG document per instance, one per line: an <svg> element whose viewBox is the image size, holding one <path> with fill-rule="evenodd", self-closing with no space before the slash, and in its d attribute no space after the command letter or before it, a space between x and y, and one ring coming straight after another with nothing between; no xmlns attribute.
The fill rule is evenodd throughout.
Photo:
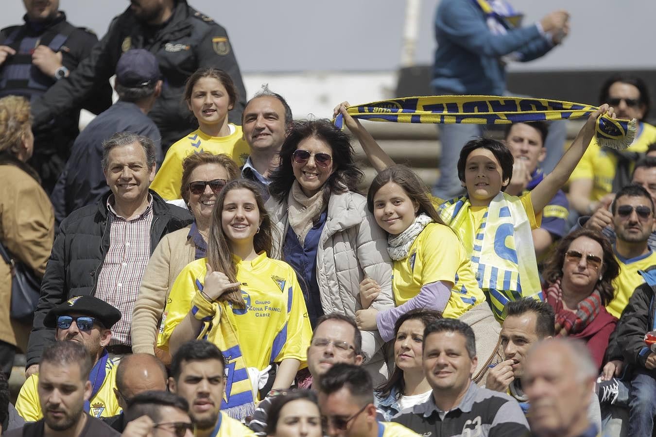
<svg viewBox="0 0 656 437"><path fill-rule="evenodd" d="M656 127L648 123L638 124L638 134L634 142L626 149L628 152L646 152L650 144L656 143ZM617 156L599 147L596 138L583 154L576 168L569 176L569 182L575 180L592 180L592 193L590 200L601 200L605 195L613 192L613 180L617 169ZM632 171L632 169L630 169Z"/></svg>

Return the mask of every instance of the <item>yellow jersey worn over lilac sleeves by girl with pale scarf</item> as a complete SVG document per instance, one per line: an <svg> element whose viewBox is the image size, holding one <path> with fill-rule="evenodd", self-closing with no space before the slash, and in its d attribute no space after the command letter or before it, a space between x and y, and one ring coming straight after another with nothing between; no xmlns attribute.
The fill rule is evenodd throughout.
<svg viewBox="0 0 656 437"><path fill-rule="evenodd" d="M428 223L410 246L408 256L394 261L392 290L396 305L409 301L422 286L438 280L454 284L444 317L457 318L485 301L461 240L448 226Z"/></svg>

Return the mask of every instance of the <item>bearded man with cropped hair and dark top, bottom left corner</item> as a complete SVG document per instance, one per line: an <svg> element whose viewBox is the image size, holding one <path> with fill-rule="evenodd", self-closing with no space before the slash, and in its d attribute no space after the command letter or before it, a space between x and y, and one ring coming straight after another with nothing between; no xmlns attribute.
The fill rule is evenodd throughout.
<svg viewBox="0 0 656 437"><path fill-rule="evenodd" d="M121 434L85 413L92 392L91 357L82 343L58 341L43 351L39 408L45 415L5 434L11 437L118 437Z"/></svg>

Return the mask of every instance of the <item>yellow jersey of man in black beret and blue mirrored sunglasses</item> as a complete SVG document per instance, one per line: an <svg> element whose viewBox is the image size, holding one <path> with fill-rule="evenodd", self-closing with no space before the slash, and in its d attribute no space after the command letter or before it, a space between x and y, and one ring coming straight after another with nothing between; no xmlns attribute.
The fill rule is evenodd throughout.
<svg viewBox="0 0 656 437"><path fill-rule="evenodd" d="M39 402L39 374L31 375L18 392L16 399L16 411L26 422L35 422L43 418L41 402ZM119 402L114 394L116 387L116 366L112 360L105 364L105 380L103 381L96 396L89 400L89 414L93 417L112 417L121 412Z"/></svg>

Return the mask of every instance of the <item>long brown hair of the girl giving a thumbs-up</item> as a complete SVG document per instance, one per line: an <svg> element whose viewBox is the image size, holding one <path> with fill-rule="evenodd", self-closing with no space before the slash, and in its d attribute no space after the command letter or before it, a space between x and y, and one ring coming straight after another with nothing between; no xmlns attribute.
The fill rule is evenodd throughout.
<svg viewBox="0 0 656 437"><path fill-rule="evenodd" d="M260 213L260 230L255 234L253 238L253 248L255 252L262 252L263 250L267 253L271 253L272 248L272 229L271 229L271 219L269 214L264 208L264 200L262 200L262 195L260 194L260 187L255 184L253 181L246 179L236 179L228 182L228 184L221 190L216 199L216 205L212 212L212 221L209 228L209 236L207 238L207 263L211 265L212 269L224 273L228 276L230 282L237 282L237 266L232 258L232 249L228 243L228 239L223 231L223 226L221 223L221 214L223 212L223 205L226 201L226 195L234 190L239 188L245 188L255 197L255 202L257 204L257 209ZM241 290L234 289L230 292L226 292L218 298L218 300L224 300L232 303L234 307L245 308L246 304L243 297L241 296Z"/></svg>

